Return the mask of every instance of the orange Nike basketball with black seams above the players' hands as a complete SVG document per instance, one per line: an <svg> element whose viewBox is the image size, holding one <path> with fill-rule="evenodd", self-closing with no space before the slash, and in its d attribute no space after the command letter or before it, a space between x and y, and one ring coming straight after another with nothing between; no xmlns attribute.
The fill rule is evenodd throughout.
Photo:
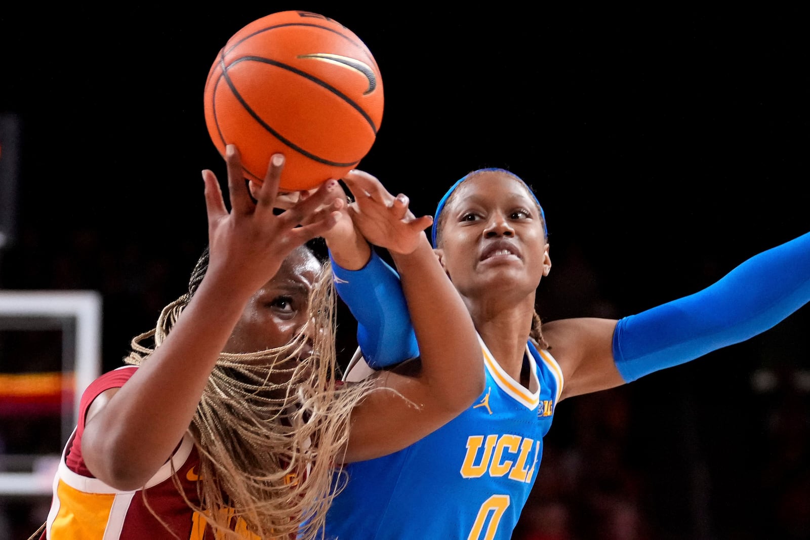
<svg viewBox="0 0 810 540"><path fill-rule="evenodd" d="M261 183L285 157L281 191L313 189L356 168L382 122L382 78L354 32L324 15L279 11L235 33L205 84L205 120L220 155L235 144Z"/></svg>

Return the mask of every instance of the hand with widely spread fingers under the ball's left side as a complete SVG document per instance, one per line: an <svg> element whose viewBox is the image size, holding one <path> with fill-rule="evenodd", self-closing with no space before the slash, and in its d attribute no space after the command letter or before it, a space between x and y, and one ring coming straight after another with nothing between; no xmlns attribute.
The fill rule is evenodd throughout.
<svg viewBox="0 0 810 540"><path fill-rule="evenodd" d="M275 198L283 169L283 155L271 157L262 185L250 197L242 176L239 153L229 145L225 154L228 168L228 192L231 210L225 207L222 190L210 170L203 171L208 213L209 271L220 270L228 276L229 288L239 287L253 294L279 270L284 257L297 246L315 236L323 236L334 227L339 217L337 181L321 185L309 197L301 199L280 214L275 214ZM318 207L335 205L334 210L320 212L310 220ZM305 223L301 225L301 223ZM244 287L244 289L242 289Z"/></svg>

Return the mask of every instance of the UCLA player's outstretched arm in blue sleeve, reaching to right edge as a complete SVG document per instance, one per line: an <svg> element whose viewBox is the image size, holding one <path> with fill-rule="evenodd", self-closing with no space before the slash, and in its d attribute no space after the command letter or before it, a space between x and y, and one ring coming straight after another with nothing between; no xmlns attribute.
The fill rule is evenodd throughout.
<svg viewBox="0 0 810 540"><path fill-rule="evenodd" d="M585 336L587 345L561 366L566 396L594 392L743 342L810 301L810 233L768 249L690 296L620 321L549 323L547 338ZM558 324L559 323L559 324ZM552 345L553 346L553 345ZM590 352L590 354L589 354Z"/></svg>

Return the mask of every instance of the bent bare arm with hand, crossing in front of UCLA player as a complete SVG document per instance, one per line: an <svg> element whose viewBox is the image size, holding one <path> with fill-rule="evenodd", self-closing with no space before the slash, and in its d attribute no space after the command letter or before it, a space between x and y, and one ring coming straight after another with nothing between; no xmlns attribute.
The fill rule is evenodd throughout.
<svg viewBox="0 0 810 540"><path fill-rule="evenodd" d="M403 449L462 413L484 391L484 359L467 307L424 234L432 219L414 218L407 198L367 173L345 181L356 198L352 219L399 270L420 350L420 359L377 372L377 392L352 413L344 461L358 461Z"/></svg>

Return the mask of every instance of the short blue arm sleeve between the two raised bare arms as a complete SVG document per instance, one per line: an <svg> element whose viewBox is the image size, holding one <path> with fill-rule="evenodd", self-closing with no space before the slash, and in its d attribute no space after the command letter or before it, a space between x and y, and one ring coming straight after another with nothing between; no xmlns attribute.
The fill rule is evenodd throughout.
<svg viewBox="0 0 810 540"><path fill-rule="evenodd" d="M335 290L357 320L357 344L371 368L384 368L419 355L399 274L372 249L360 270L338 266L329 253Z"/></svg>

